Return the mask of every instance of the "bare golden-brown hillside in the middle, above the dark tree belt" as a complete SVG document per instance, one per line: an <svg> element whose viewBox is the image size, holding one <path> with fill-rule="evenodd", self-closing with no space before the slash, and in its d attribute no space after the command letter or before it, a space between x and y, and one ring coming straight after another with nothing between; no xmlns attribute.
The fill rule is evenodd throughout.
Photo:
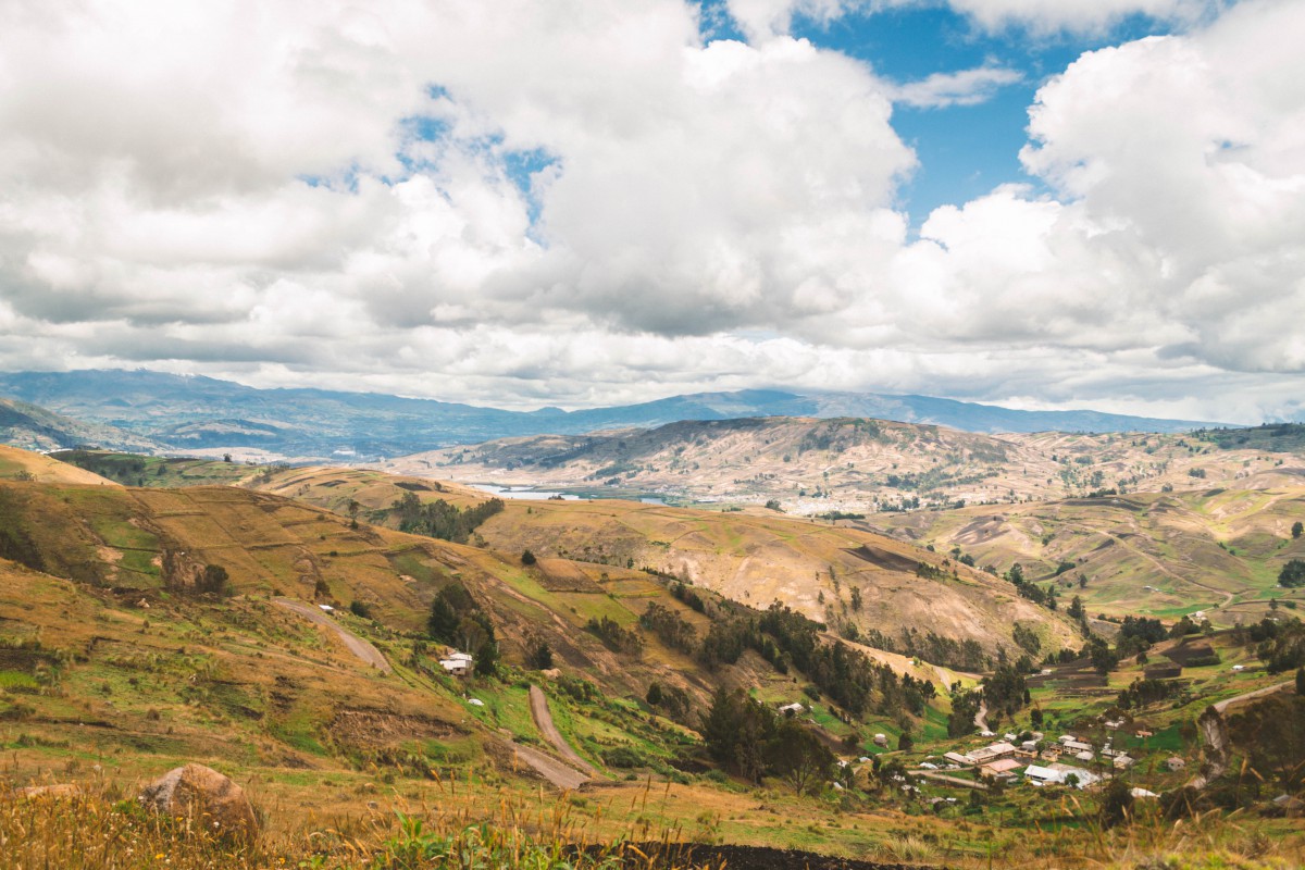
<svg viewBox="0 0 1305 870"><path fill-rule="evenodd" d="M452 484L364 470L287 470L260 487L339 513L358 501L367 509L360 515L388 524L399 522L392 506L406 494L461 506L487 500L484 493ZM502 505L501 513L475 530L479 540L499 552L530 549L539 556L647 569L757 608L780 601L843 634L883 637L893 644L911 626L921 637L972 640L994 653L1001 646L1014 650L1010 633L1017 621L1037 626L1049 650L1077 643L1073 629L1019 599L1009 583L846 526L773 511L701 511L619 500L509 498ZM953 664L938 656L930 660Z"/></svg>

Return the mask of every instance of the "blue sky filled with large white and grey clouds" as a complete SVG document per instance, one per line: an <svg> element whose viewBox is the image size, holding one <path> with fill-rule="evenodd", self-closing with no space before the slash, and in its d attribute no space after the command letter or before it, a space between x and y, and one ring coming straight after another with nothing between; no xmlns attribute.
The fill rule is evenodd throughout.
<svg viewBox="0 0 1305 870"><path fill-rule="evenodd" d="M1305 419L1302 0L0 0L0 369Z"/></svg>

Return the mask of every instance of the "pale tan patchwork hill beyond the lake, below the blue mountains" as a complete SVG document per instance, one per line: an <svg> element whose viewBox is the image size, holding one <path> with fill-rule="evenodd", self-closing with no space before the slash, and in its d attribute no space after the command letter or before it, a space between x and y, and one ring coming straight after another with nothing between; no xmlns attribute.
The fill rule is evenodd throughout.
<svg viewBox="0 0 1305 870"><path fill-rule="evenodd" d="M1305 483L1305 451L1220 449L1191 436L985 436L844 417L681 421L536 436L402 457L381 467L500 487L656 494L791 513L872 514L1011 503L1101 490Z"/></svg>

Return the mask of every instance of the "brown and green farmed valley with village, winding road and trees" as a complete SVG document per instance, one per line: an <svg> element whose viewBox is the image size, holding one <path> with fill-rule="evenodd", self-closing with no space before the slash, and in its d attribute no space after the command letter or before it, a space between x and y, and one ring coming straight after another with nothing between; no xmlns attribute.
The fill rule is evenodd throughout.
<svg viewBox="0 0 1305 870"><path fill-rule="evenodd" d="M1205 757L1185 737L1201 711L1265 690L1224 711L1233 751L1249 753L1237 711L1291 703L1268 690L1305 656L1300 591L1268 577L1298 554L1302 494L1291 489L872 524L94 451L0 450L0 793L4 781L130 788L200 760L253 789L269 862L318 819L359 807L373 809L355 840L378 861L403 836L393 810L453 837L471 819L515 830L508 806L543 818L561 789L565 820L536 828L560 843L957 867L985 866L1000 844L1021 861L1113 866L1139 841L1094 833L1101 793L1074 810L1073 780L1031 784L1040 764L1100 779L1099 760L1058 759L1056 736L1098 759L1125 753L1134 787L1180 794L1188 777L1167 759ZM1074 569L1057 575L1064 562ZM1207 578L1216 569L1223 586ZM1139 607L1135 580L1150 570L1164 578ZM1064 587L1054 609L1031 591L1052 584ZM1090 616L1069 612L1073 593ZM1258 607L1268 597L1282 609ZM1203 631L1174 622L1194 601L1211 620ZM1139 612L1164 627L1138 634ZM1249 627L1218 627L1233 622ZM472 651L467 676L448 669L452 650ZM737 754L749 745L737 716L775 737ZM976 734L976 720L997 734ZM1107 721L1126 725L1111 736ZM1002 730L1032 749L1005 764L1014 779L989 781L984 753L1002 757L987 749ZM813 742L792 757L767 740ZM1184 800L1221 800L1202 794ZM1126 836L1176 848L1159 822L1169 802L1134 811L1156 820ZM1210 861L1244 848L1203 818ZM1305 849L1291 818L1254 830L1278 844L1263 866ZM351 866L342 848L324 847L321 866Z"/></svg>

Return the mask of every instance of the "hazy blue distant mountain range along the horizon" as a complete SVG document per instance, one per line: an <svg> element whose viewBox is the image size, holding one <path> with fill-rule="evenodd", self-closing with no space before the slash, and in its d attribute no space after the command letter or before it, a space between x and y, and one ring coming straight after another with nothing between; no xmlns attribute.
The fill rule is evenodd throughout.
<svg viewBox="0 0 1305 870"><path fill-rule="evenodd" d="M375 393L258 390L147 370L0 374L0 394L171 449L244 446L294 457L346 451L376 458L513 436L773 416L878 417L981 433L1173 433L1216 425L1095 411L1015 411L921 395L786 390L699 393L611 408L542 408L526 413Z"/></svg>

